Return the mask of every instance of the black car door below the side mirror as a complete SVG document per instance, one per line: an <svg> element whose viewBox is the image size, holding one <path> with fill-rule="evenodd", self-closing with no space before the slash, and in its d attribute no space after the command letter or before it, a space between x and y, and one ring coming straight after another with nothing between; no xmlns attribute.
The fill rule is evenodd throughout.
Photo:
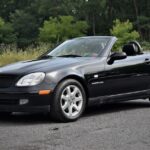
<svg viewBox="0 0 150 150"><path fill-rule="evenodd" d="M103 76L103 95L116 95L146 90L148 75L144 55L128 56L123 60L116 60L113 64L105 64Z"/></svg>

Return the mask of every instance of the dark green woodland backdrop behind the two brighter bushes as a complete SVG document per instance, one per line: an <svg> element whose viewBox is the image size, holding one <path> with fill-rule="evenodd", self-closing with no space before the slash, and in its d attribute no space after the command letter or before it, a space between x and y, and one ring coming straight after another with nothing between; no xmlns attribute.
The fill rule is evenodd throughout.
<svg viewBox="0 0 150 150"><path fill-rule="evenodd" d="M149 0L0 0L0 16L6 25L5 32L7 29L16 36L2 39L0 43L13 42L19 47L36 45L39 28L43 28L43 23L49 18L58 16L73 16L76 22L86 21L86 35L109 35L113 20L130 20L133 28L140 33L141 40L150 41ZM5 37L10 35L5 32ZM65 35L64 39L67 37Z"/></svg>

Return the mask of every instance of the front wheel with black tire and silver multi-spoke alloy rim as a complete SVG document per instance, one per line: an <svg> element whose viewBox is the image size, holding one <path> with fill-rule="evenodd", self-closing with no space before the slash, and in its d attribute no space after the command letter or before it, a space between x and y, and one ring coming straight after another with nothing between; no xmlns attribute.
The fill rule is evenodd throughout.
<svg viewBox="0 0 150 150"><path fill-rule="evenodd" d="M77 120L84 112L86 94L78 81L74 79L62 81L53 94L50 115L55 121L72 122Z"/></svg>

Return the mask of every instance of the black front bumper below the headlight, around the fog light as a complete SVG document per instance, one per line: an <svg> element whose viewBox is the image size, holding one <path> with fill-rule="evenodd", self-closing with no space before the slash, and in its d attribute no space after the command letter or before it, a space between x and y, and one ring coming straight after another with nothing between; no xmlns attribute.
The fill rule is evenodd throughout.
<svg viewBox="0 0 150 150"><path fill-rule="evenodd" d="M0 112L45 112L50 110L52 95L38 92L0 92ZM27 100L21 104L21 100Z"/></svg>

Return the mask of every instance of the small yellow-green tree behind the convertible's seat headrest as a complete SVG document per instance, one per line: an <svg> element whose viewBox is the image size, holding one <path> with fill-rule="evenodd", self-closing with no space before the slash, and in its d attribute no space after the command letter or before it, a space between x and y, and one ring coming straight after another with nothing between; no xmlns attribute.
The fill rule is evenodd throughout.
<svg viewBox="0 0 150 150"><path fill-rule="evenodd" d="M119 49L121 46L131 40L139 38L139 33L133 30L133 24L129 20L121 22L120 20L114 20L114 25L110 30L111 35L116 36L118 41L115 48Z"/></svg>

